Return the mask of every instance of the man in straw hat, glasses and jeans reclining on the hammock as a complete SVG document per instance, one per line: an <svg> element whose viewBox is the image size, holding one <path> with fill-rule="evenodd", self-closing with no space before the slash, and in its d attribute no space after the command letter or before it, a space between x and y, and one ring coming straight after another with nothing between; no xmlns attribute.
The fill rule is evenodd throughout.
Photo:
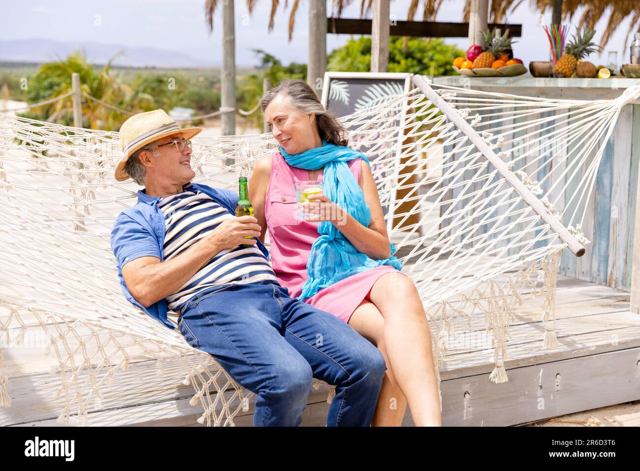
<svg viewBox="0 0 640 471"><path fill-rule="evenodd" d="M191 183L190 139L200 131L161 109L120 128L116 180L145 187L111 232L125 297L168 328L167 310L179 314L187 342L257 394L254 426L300 425L312 377L336 385L327 426L369 426L383 356L337 317L289 297L258 221L235 216L236 193Z"/></svg>

